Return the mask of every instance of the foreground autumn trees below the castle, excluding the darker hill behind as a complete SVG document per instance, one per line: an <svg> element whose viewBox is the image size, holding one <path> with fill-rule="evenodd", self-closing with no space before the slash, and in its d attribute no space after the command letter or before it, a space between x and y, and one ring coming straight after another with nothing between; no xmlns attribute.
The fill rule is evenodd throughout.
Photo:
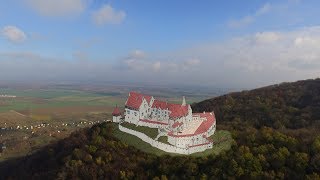
<svg viewBox="0 0 320 180"><path fill-rule="evenodd" d="M4 179L316 179L320 137L309 144L272 128L235 131L217 156L156 156L127 146L103 123L0 165ZM311 147L310 149L306 147Z"/></svg>

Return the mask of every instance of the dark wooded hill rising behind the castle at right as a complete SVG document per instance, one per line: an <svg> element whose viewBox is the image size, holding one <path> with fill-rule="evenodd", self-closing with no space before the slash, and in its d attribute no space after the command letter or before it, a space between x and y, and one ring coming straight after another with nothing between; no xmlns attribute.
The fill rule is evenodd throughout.
<svg viewBox="0 0 320 180"><path fill-rule="evenodd" d="M320 79L230 93L193 104L192 108L195 112L214 111L219 122L307 127L320 123Z"/></svg>

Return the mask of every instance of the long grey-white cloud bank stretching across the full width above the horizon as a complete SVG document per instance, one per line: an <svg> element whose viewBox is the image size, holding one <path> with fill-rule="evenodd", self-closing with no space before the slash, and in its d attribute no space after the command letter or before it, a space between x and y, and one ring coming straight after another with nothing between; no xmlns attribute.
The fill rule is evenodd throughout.
<svg viewBox="0 0 320 180"><path fill-rule="evenodd" d="M81 53L75 53L74 58L2 52L0 80L121 81L242 88L316 78L320 72L320 27L259 32L172 52L133 50L116 60L103 62Z"/></svg>

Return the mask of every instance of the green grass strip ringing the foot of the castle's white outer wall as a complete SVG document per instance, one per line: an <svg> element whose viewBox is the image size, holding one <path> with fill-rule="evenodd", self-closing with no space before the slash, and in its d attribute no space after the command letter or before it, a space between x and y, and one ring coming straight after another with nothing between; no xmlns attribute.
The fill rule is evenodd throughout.
<svg viewBox="0 0 320 180"><path fill-rule="evenodd" d="M130 146L134 146L135 148L141 151L144 151L146 153L152 153L158 156L162 156L162 155L183 156L180 154L167 153L158 148L152 147L150 144L142 141L138 137L120 131L118 124L116 123L113 123L113 134L116 138L118 138L122 142ZM233 142L231 133L229 131L224 131L224 130L216 131L215 134L212 135L210 138L214 141L219 141L222 138L227 140L214 145L212 149L207 149L204 152L194 153L194 154L191 154L191 156L202 157L202 156L208 156L208 155L217 155L223 151L230 149Z"/></svg>

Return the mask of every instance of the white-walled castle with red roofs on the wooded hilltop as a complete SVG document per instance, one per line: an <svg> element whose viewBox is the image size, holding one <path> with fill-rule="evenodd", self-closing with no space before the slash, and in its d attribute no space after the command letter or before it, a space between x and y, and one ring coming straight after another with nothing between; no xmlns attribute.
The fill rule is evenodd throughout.
<svg viewBox="0 0 320 180"><path fill-rule="evenodd" d="M167 136L168 143L176 149L170 152L181 151L187 152L182 154L190 154L212 148L213 145L209 137L216 129L214 113L192 113L185 97L181 104L173 104L155 99L153 96L130 92L125 103L124 116L118 107L112 115L113 122L120 124L128 122L136 126L158 128L159 135ZM152 145L152 142L150 144ZM166 151L168 148L160 149Z"/></svg>

